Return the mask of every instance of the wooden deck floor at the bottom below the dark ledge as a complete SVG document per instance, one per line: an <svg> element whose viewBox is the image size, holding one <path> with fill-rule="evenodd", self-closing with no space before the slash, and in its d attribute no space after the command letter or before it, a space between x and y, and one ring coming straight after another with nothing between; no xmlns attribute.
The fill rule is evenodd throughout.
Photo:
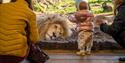
<svg viewBox="0 0 125 63"><path fill-rule="evenodd" d="M118 58L125 57L125 50L93 51L91 55L78 56L76 51L46 50L50 59L46 63L124 63Z"/></svg>

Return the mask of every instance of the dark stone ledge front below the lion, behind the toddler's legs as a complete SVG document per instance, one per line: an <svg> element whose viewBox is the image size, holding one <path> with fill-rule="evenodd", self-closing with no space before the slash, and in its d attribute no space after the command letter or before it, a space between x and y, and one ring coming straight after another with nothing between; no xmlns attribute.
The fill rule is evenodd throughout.
<svg viewBox="0 0 125 63"><path fill-rule="evenodd" d="M77 42L41 42L40 48L47 50L77 50ZM94 41L92 50L123 50L123 48L115 42L97 42Z"/></svg>

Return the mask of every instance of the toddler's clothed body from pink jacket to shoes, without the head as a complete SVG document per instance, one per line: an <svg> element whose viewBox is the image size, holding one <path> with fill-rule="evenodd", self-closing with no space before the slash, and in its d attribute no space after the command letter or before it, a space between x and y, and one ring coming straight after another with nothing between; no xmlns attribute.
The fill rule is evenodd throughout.
<svg viewBox="0 0 125 63"><path fill-rule="evenodd" d="M81 10L75 14L78 30L78 55L90 54L93 45L93 14L89 10Z"/></svg>

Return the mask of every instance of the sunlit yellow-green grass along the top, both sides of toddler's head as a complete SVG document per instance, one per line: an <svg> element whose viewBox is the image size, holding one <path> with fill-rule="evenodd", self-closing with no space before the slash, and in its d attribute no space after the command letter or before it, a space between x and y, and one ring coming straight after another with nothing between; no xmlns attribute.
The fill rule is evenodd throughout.
<svg viewBox="0 0 125 63"><path fill-rule="evenodd" d="M109 4L111 4L111 0L106 0L106 1ZM91 10L94 14L104 13L101 7L101 4L104 2L104 0L89 0L89 2L90 2ZM97 7L96 4L100 5L100 7L99 6ZM41 3L35 3L34 9L37 12L49 12L49 13L55 12L60 14L76 12L74 0L63 0L62 2L49 4L48 8L46 8L46 5L43 5Z"/></svg>

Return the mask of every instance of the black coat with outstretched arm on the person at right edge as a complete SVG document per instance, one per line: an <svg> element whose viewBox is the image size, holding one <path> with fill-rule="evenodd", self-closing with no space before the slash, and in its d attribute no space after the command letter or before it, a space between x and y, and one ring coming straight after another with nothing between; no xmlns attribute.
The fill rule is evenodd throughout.
<svg viewBox="0 0 125 63"><path fill-rule="evenodd" d="M117 15L115 16L112 25L101 24L101 31L111 35L118 44L125 48L125 4L117 8Z"/></svg>

